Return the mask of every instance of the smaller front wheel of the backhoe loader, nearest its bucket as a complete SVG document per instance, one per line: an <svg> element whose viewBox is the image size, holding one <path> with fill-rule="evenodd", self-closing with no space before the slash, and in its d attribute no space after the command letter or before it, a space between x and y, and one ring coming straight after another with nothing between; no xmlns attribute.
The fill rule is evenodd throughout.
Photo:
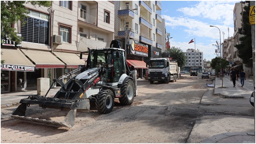
<svg viewBox="0 0 256 144"><path fill-rule="evenodd" d="M101 89L96 96L96 109L101 113L110 113L114 108L114 93L109 89Z"/></svg>

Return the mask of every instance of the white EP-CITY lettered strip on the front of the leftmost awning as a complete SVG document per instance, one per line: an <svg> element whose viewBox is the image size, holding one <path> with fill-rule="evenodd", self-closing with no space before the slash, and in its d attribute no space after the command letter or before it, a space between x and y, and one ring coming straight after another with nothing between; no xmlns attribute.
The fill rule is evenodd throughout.
<svg viewBox="0 0 256 144"><path fill-rule="evenodd" d="M21 65L1 64L1 70L34 72L35 71L35 66L21 66Z"/></svg>

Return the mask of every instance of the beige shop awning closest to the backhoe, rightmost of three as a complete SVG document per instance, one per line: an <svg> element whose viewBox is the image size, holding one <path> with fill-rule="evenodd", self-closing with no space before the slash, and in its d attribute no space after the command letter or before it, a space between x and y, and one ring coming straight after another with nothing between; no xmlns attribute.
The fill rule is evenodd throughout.
<svg viewBox="0 0 256 144"><path fill-rule="evenodd" d="M67 68L78 68L78 65L85 65L85 61L76 54L66 52L53 52L53 54L61 59L67 65Z"/></svg>

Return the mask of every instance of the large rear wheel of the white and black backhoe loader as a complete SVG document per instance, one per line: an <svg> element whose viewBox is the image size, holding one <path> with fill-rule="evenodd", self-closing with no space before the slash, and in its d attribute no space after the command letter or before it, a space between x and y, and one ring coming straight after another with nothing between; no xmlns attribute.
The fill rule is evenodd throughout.
<svg viewBox="0 0 256 144"><path fill-rule="evenodd" d="M131 105L134 99L134 92L134 84L132 80L128 79L121 87L122 97L119 98L119 102L124 106Z"/></svg>

